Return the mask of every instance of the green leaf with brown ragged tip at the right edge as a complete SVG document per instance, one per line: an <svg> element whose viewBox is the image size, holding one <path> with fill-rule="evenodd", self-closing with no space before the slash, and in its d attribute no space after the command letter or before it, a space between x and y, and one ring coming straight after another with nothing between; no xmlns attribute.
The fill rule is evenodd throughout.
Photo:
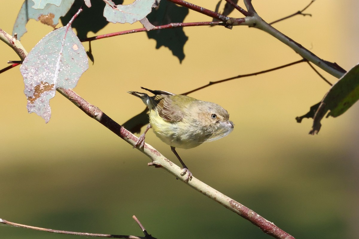
<svg viewBox="0 0 359 239"><path fill-rule="evenodd" d="M324 96L313 118L313 128L309 134L317 134L320 130L320 121L327 113L337 117L347 111L359 99L359 64L351 68L340 80L331 87Z"/></svg>

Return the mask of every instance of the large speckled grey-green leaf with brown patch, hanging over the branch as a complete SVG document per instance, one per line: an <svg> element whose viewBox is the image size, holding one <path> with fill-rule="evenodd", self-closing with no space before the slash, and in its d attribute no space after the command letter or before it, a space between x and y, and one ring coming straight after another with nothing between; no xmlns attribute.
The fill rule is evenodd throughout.
<svg viewBox="0 0 359 239"><path fill-rule="evenodd" d="M87 69L86 51L70 26L47 34L20 67L28 112L35 112L47 123L51 117L49 101L56 89L74 88Z"/></svg>

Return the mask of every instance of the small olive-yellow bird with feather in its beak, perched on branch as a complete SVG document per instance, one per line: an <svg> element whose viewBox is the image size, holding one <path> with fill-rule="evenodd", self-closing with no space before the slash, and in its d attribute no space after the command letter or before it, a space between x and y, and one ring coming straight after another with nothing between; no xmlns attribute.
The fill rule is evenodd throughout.
<svg viewBox="0 0 359 239"><path fill-rule="evenodd" d="M127 91L141 98L150 110L145 132L137 140L135 147L143 148L145 134L152 128L163 142L171 146L172 152L180 160L183 172L187 173L185 181L192 178L192 173L176 152L176 148L194 148L204 142L214 141L225 137L233 130L227 110L207 101L196 100L186 95L175 95L167 91L147 90L154 94Z"/></svg>

